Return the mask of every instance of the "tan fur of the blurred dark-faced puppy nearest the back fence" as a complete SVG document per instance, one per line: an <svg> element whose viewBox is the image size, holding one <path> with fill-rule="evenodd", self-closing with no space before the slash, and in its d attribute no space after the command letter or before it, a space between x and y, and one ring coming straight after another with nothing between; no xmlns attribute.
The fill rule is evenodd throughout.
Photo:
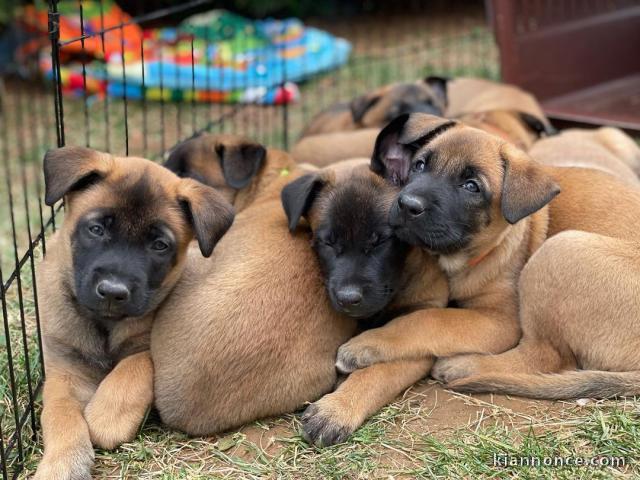
<svg viewBox="0 0 640 480"><path fill-rule="evenodd" d="M322 133L346 132L361 128L383 127L390 119L389 111L399 104L406 95L407 89L419 88L422 95L433 100L434 105L444 110L444 101L424 81L414 83L392 83L377 88L350 102L337 103L314 116L302 133L302 137ZM354 118L354 111L358 111L368 102L373 102L370 108L363 108L362 118ZM355 156L360 155L359 153Z"/></svg>

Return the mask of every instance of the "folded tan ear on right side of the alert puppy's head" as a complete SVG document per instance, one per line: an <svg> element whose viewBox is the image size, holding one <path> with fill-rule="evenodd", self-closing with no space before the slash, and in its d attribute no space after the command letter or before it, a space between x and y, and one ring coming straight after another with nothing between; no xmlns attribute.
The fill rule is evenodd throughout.
<svg viewBox="0 0 640 480"><path fill-rule="evenodd" d="M514 224L537 212L560 193L560 187L542 165L526 153L505 143L500 151L504 166L500 208Z"/></svg>

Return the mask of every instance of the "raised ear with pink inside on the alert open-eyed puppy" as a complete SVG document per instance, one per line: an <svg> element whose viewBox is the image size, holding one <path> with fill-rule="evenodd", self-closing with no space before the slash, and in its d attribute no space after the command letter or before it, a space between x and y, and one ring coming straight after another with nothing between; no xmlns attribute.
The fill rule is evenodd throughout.
<svg viewBox="0 0 640 480"><path fill-rule="evenodd" d="M376 138L371 171L395 185L404 185L415 152L454 125L454 121L425 113L396 117Z"/></svg>

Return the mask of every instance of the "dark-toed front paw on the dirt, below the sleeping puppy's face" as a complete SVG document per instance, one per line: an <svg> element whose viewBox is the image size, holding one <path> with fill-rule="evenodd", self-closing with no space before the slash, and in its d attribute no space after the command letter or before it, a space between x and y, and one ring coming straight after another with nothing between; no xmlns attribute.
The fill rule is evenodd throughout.
<svg viewBox="0 0 640 480"><path fill-rule="evenodd" d="M319 447L346 441L361 424L332 394L309 405L301 421L303 438L307 443Z"/></svg>

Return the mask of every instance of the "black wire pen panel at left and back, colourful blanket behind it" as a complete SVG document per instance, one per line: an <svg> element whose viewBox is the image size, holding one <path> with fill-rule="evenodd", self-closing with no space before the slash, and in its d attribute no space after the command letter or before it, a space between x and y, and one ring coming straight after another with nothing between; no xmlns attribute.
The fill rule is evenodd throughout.
<svg viewBox="0 0 640 480"><path fill-rule="evenodd" d="M256 47L251 35L221 43L220 32L207 22L167 28L215 8L213 0L173 3L136 17L108 0L49 0L46 9L39 10L36 2L18 10L24 18L13 21L30 27L39 22L44 30L24 30L30 38L19 38L18 44L35 42L39 49L32 62L19 62L21 71L3 73L3 478L19 475L25 464L30 467L40 447L39 393L45 372L35 273L64 214L61 203L44 205L44 152L85 145L161 161L176 143L200 132L242 134L287 148L318 111L375 87L427 75L497 78L497 51L482 4L425 3L368 12L368 3L362 2L358 15L345 7L331 20L307 20L344 42L344 50L324 57L324 67L297 56L313 43L291 41L291 32L300 28L295 22L269 24L276 31L264 48ZM69 28L70 19L76 30ZM25 71L25 65L34 71Z"/></svg>

